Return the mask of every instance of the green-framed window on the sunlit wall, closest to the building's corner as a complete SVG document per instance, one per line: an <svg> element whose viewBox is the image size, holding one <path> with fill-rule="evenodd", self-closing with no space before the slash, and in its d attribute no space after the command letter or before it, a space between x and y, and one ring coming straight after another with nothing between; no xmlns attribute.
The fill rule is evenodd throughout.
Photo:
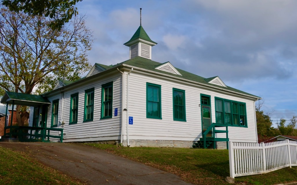
<svg viewBox="0 0 297 185"><path fill-rule="evenodd" d="M146 83L146 118L162 119L160 85Z"/></svg>

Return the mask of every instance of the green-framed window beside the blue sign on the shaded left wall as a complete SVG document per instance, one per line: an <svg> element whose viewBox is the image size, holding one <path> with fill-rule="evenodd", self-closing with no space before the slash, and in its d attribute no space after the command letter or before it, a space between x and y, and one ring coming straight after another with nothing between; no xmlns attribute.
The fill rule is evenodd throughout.
<svg viewBox="0 0 297 185"><path fill-rule="evenodd" d="M102 85L101 119L112 118L113 82Z"/></svg>

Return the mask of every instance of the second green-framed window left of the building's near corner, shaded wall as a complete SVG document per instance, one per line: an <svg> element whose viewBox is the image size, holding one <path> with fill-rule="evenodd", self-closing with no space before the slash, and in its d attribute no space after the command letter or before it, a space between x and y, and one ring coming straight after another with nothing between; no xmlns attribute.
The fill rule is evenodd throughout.
<svg viewBox="0 0 297 185"><path fill-rule="evenodd" d="M93 121L94 118L94 88L85 90L85 109L83 121Z"/></svg>

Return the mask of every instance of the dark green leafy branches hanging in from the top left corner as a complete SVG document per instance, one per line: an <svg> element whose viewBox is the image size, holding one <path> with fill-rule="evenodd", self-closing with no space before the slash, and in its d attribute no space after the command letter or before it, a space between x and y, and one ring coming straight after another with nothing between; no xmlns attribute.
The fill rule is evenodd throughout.
<svg viewBox="0 0 297 185"><path fill-rule="evenodd" d="M2 4L11 11L24 12L28 15L50 17L48 22L53 29L61 30L73 15L78 14L75 4L82 0L2 0Z"/></svg>

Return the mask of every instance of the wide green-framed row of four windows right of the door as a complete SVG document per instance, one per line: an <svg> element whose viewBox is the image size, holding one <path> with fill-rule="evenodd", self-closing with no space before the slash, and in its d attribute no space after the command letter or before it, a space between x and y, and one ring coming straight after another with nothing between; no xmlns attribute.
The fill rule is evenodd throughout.
<svg viewBox="0 0 297 185"><path fill-rule="evenodd" d="M247 127L247 108L243 102L215 97L216 123Z"/></svg>

